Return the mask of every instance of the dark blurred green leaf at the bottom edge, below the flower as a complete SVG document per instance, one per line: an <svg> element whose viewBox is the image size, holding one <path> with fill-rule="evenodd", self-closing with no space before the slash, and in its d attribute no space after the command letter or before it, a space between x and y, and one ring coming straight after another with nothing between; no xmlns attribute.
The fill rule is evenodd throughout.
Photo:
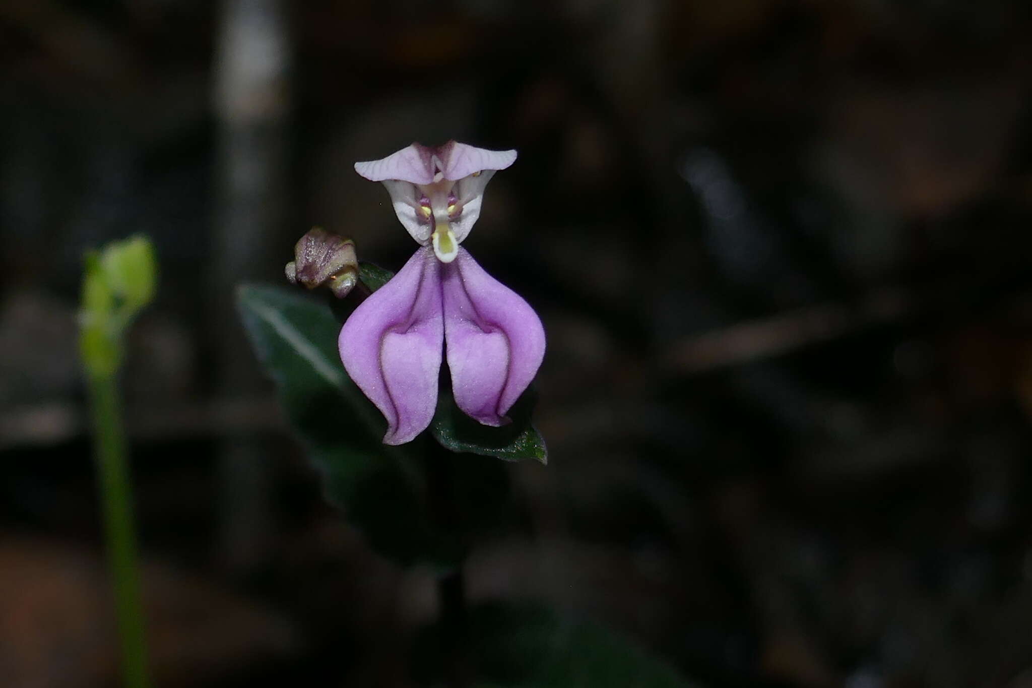
<svg viewBox="0 0 1032 688"><path fill-rule="evenodd" d="M692 688L663 659L596 623L541 605L488 602L470 614L464 648L479 688ZM440 628L417 645L417 679L444 674Z"/></svg>

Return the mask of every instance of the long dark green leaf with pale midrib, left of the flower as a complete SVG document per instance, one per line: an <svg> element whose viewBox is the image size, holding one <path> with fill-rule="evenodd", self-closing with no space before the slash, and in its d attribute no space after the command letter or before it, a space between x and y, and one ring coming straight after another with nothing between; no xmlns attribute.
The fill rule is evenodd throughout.
<svg viewBox="0 0 1032 688"><path fill-rule="evenodd" d="M422 474L381 439L386 422L341 364L341 326L325 303L275 287L243 286L237 302L280 400L341 506L380 552L408 564L440 558L428 531Z"/></svg>

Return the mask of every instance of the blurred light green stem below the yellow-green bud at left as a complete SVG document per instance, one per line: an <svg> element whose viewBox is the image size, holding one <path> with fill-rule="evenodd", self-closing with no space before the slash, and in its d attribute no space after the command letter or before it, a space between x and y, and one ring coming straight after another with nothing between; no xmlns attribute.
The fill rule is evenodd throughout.
<svg viewBox="0 0 1032 688"><path fill-rule="evenodd" d="M89 387L107 560L122 640L123 678L126 688L147 688L150 682L139 566L118 384L115 375L91 375Z"/></svg>

